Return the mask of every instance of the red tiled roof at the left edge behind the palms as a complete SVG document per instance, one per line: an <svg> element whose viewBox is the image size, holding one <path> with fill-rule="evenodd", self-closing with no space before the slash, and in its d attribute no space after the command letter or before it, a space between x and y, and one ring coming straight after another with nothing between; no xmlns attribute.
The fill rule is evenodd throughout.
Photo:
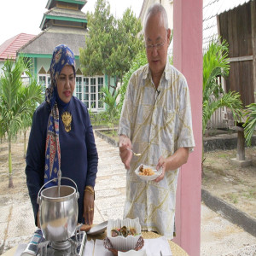
<svg viewBox="0 0 256 256"><path fill-rule="evenodd" d="M6 40L0 45L0 61L8 58L16 59L16 52L20 47L28 43L35 35L20 33L13 38Z"/></svg>

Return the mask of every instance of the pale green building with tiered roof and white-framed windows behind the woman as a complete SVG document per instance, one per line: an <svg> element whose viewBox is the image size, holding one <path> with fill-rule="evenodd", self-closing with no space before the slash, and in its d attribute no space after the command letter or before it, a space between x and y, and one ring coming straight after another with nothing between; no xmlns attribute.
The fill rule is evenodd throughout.
<svg viewBox="0 0 256 256"><path fill-rule="evenodd" d="M77 96L92 112L104 110L102 87L108 83L104 74L85 77L81 72L79 49L85 46L87 35L86 15L81 11L86 0L48 0L47 12L40 24L42 30L18 50L18 55L31 59L32 74L38 78L43 90L50 84L49 65L55 46L67 44L76 60Z"/></svg>

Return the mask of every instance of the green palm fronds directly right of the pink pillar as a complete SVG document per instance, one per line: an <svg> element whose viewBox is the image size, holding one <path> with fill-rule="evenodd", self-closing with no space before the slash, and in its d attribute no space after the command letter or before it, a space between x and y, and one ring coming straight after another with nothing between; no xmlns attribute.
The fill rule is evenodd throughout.
<svg viewBox="0 0 256 256"><path fill-rule="evenodd" d="M235 91L227 93L218 84L218 77L229 75L230 62L228 59L228 44L212 40L207 52L203 55L203 102L202 102L202 130L205 134L207 123L218 108L230 108L233 117L240 122L242 117L242 102L240 94Z"/></svg>

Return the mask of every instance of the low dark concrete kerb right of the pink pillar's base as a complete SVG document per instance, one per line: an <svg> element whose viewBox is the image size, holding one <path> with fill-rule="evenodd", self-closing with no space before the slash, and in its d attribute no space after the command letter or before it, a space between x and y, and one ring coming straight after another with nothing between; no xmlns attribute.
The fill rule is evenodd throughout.
<svg viewBox="0 0 256 256"><path fill-rule="evenodd" d="M243 230L256 236L256 218L250 217L246 212L241 212L236 207L212 195L206 189L201 189L201 201L214 212L219 212L231 223L237 224Z"/></svg>

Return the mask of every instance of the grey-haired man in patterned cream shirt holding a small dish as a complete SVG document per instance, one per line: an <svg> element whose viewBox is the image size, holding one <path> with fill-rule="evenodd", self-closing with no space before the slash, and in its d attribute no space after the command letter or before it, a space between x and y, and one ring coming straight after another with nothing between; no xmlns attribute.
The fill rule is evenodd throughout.
<svg viewBox="0 0 256 256"><path fill-rule="evenodd" d="M119 121L119 154L127 169L124 218L138 217L142 230L168 239L179 167L195 147L188 84L167 58L170 35L166 9L154 4L144 23L148 64L132 74ZM162 168L162 174L143 181L134 172L141 163Z"/></svg>

